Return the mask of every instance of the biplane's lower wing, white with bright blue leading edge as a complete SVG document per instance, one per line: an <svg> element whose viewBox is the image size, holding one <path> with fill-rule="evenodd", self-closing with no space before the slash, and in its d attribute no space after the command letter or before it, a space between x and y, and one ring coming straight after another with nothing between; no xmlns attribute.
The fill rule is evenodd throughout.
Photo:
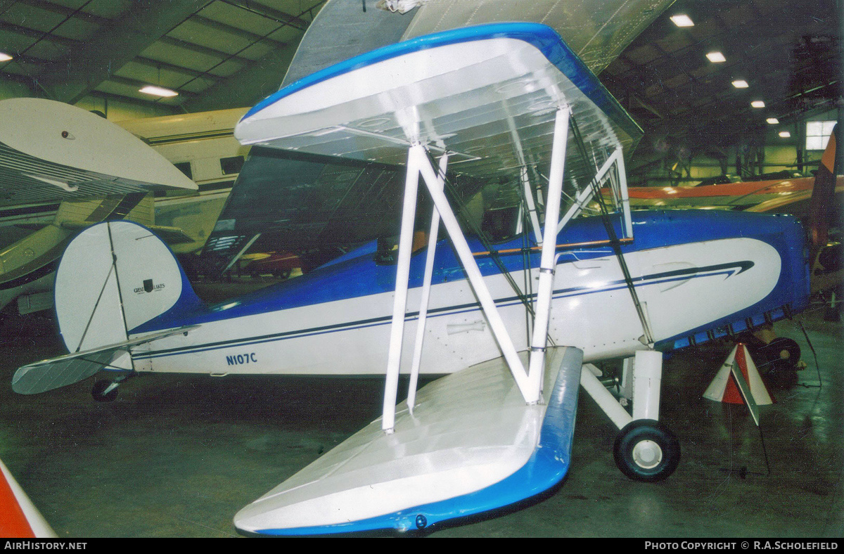
<svg viewBox="0 0 844 554"><path fill-rule="evenodd" d="M545 399L526 405L503 358L419 390L235 515L243 531L316 535L426 529L533 497L571 460L582 351L549 349Z"/></svg>

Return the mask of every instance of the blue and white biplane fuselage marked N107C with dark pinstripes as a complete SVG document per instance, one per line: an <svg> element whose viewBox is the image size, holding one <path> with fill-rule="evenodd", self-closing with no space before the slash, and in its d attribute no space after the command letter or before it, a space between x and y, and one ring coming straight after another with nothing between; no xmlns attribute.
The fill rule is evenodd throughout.
<svg viewBox="0 0 844 554"><path fill-rule="evenodd" d="M639 212L622 245L657 347L683 347L744 331L803 309L809 278L803 230L794 218L738 212ZM592 244L587 244L592 243ZM596 244L597 243L597 244ZM470 239L479 268L517 349L527 348L538 253L523 238L495 245L511 281ZM643 327L606 230L580 218L558 236L549 336L584 358L647 348ZM173 308L130 335L200 325L187 337L133 352L138 371L211 374L380 374L384 371L396 267L367 245L317 270L240 299L206 306L183 291ZM531 269L525 271L524 261ZM405 356L419 313L424 250L411 262ZM446 374L500 356L462 266L437 245L421 371ZM404 367L404 366L403 366Z"/></svg>

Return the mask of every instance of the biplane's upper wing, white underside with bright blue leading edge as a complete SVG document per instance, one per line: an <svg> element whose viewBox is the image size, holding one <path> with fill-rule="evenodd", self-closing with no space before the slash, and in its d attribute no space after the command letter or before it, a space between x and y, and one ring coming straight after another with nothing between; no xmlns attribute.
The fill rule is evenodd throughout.
<svg viewBox="0 0 844 554"><path fill-rule="evenodd" d="M247 112L235 137L382 164L403 164L408 146L424 143L474 177L517 177L525 164L549 163L560 105L571 105L587 154L641 137L554 30L488 24L385 46L300 79Z"/></svg>

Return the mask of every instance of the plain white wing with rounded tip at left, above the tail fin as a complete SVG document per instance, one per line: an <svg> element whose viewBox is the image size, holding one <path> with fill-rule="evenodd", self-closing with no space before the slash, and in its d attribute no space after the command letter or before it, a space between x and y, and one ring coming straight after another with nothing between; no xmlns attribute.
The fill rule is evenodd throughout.
<svg viewBox="0 0 844 554"><path fill-rule="evenodd" d="M196 184L138 137L53 100L0 101L0 206Z"/></svg>

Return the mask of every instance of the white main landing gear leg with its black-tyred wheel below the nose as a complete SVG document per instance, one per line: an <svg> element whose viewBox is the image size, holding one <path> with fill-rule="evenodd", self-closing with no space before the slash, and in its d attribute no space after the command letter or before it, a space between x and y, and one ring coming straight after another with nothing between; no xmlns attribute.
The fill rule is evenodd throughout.
<svg viewBox="0 0 844 554"><path fill-rule="evenodd" d="M636 481L662 481L674 473L680 460L679 440L658 421L662 353L636 352L635 360L625 361L625 369L630 365L625 377L632 374L632 416L592 372L582 372L581 385L619 428L613 447L619 470Z"/></svg>

